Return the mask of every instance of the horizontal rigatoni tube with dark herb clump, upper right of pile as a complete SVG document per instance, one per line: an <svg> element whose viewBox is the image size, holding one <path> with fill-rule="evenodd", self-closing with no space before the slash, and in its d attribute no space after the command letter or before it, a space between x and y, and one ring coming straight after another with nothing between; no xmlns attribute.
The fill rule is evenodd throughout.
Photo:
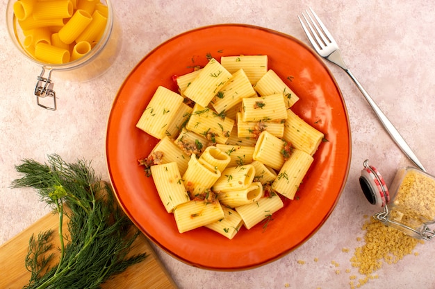
<svg viewBox="0 0 435 289"><path fill-rule="evenodd" d="M281 121L287 119L282 94L243 98L242 121Z"/></svg>

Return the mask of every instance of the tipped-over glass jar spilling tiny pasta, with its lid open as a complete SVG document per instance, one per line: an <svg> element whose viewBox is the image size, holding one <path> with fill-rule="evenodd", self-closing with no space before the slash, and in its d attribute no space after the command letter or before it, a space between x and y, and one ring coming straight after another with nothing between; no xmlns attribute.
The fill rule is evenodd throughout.
<svg viewBox="0 0 435 289"><path fill-rule="evenodd" d="M431 240L435 236L435 177L418 168L400 168L388 189L368 160L363 165L361 189L371 204L383 208L373 217L413 238Z"/></svg>

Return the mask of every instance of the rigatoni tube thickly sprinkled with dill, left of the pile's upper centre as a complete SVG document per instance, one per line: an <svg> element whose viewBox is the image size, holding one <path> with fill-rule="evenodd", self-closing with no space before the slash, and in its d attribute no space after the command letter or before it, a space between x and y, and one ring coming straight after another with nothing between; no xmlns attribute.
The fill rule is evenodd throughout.
<svg viewBox="0 0 435 289"><path fill-rule="evenodd" d="M233 125L232 119L222 118L210 108L196 103L186 129L203 135L213 143L225 143L233 130Z"/></svg>

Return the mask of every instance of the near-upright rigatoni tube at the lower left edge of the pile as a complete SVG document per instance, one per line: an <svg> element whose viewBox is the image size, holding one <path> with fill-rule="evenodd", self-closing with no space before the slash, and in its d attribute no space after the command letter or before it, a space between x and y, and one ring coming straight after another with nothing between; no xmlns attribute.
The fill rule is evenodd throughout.
<svg viewBox="0 0 435 289"><path fill-rule="evenodd" d="M151 166L151 175L163 206L168 213L190 201L176 162Z"/></svg>

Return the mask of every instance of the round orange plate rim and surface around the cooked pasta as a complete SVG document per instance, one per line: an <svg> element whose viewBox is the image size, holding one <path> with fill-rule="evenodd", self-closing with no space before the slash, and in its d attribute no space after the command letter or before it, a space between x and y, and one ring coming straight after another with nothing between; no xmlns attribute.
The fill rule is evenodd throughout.
<svg viewBox="0 0 435 289"><path fill-rule="evenodd" d="M300 100L293 111L325 133L325 141L295 200L284 200L267 227L244 227L229 240L206 228L179 234L165 211L152 177L138 159L157 140L136 128L158 85L177 91L174 75L204 66L207 55L268 55L273 69ZM108 119L106 156L110 180L124 211L154 243L175 258L211 270L244 270L288 254L327 220L347 179L351 143L340 89L320 58L299 40L266 28L223 24L188 31L151 51L131 71Z"/></svg>

